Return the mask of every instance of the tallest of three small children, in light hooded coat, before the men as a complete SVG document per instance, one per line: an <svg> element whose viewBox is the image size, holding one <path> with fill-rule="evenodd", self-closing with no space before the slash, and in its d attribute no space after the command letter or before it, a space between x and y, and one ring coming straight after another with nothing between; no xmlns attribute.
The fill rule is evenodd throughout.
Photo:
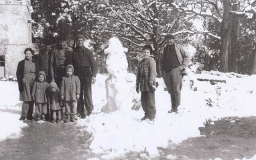
<svg viewBox="0 0 256 160"><path fill-rule="evenodd" d="M74 67L72 65L66 66L66 76L62 78L60 87L60 95L64 100L66 110L65 123L76 121L76 100L80 97L80 80L78 76L73 75L73 72Z"/></svg>

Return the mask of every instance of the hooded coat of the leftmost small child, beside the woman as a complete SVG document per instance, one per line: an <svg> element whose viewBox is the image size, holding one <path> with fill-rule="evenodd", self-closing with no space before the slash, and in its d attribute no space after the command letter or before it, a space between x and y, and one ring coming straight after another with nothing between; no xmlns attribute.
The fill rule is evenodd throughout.
<svg viewBox="0 0 256 160"><path fill-rule="evenodd" d="M35 97L35 102L37 103L46 103L48 102L47 93L49 84L48 82L46 82L46 74L44 73L44 71L40 71L38 73L38 78L40 74L44 75L44 81L40 82L39 80L37 80L36 82L34 82L31 97Z"/></svg>

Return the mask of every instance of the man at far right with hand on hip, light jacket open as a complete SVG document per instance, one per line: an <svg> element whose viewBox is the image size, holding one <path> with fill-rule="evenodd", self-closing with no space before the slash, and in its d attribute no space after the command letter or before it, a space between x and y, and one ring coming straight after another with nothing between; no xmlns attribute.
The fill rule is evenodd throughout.
<svg viewBox="0 0 256 160"><path fill-rule="evenodd" d="M171 96L172 110L178 112L180 106L180 91L182 90L182 78L187 74L186 68L191 60L188 51L179 44L174 44L174 35L166 35L167 46L164 48L160 66L164 83Z"/></svg>

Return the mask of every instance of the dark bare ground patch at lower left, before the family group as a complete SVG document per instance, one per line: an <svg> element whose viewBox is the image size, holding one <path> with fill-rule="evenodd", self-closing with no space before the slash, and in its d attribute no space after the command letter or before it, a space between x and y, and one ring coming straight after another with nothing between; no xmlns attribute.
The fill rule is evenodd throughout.
<svg viewBox="0 0 256 160"><path fill-rule="evenodd" d="M84 133L74 123L52 124L26 121L23 137L0 143L0 159L88 159Z"/></svg>

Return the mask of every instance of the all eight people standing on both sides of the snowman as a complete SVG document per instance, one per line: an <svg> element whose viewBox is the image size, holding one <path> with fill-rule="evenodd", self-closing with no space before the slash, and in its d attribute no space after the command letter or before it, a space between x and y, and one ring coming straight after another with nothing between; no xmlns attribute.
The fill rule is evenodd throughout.
<svg viewBox="0 0 256 160"><path fill-rule="evenodd" d="M172 109L168 112L177 113L181 101L182 78L186 75L191 56L183 46L174 43L174 35L166 35L165 40L167 45L160 60L161 75L172 101ZM151 46L145 45L142 53L143 60L139 62L137 70L136 91L141 92L141 106L145 112L141 121L148 120L153 123L156 114L156 63L151 57ZM17 67L20 100L23 101L20 120L32 119L34 102L36 120L45 121L50 106L53 123L60 123L62 119L65 123L74 122L76 102L81 118L92 114L91 84L96 82L97 63L92 52L84 47L83 35L76 35L74 50L66 47L66 39L60 38L58 48L49 55L49 63L35 62L31 48L25 49L24 54L25 60L19 62ZM40 60L46 61L48 58ZM50 70L50 78L45 74L46 69Z"/></svg>

